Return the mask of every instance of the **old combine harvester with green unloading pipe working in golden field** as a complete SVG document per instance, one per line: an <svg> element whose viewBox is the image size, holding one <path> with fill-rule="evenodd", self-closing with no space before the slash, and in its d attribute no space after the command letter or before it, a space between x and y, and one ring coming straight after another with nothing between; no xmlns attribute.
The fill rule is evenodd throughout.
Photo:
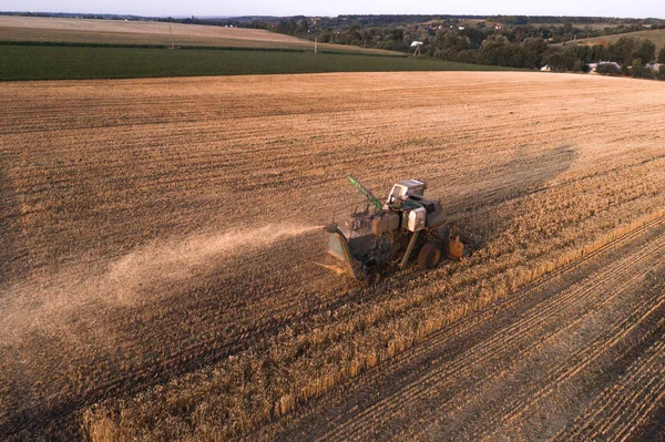
<svg viewBox="0 0 665 442"><path fill-rule="evenodd" d="M351 175L349 179L369 204L364 212L352 213L341 227L335 222L324 227L330 234L328 254L341 264L340 273L371 286L382 274L405 268L411 256L417 255L418 266L428 269L436 267L443 254L454 259L470 254L441 204L423 197L424 182L400 181L381 203Z"/></svg>

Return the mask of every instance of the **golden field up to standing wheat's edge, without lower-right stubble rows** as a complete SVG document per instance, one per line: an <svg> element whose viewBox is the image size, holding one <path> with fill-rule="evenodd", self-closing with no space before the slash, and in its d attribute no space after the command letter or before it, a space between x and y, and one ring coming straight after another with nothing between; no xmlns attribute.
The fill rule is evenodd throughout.
<svg viewBox="0 0 665 442"><path fill-rule="evenodd" d="M529 72L0 84L0 426L68 434L123 397L89 418L170 439L288 413L661 208L664 97ZM361 201L348 173L426 179L483 250L330 275L314 227Z"/></svg>

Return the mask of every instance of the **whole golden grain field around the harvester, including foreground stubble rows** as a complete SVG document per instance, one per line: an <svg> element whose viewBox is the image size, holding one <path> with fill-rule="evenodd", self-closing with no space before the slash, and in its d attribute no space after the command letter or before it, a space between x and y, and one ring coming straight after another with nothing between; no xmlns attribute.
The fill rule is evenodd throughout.
<svg viewBox="0 0 665 442"><path fill-rule="evenodd" d="M530 72L0 83L8 440L654 440L665 84ZM367 288L402 178L480 238Z"/></svg>

